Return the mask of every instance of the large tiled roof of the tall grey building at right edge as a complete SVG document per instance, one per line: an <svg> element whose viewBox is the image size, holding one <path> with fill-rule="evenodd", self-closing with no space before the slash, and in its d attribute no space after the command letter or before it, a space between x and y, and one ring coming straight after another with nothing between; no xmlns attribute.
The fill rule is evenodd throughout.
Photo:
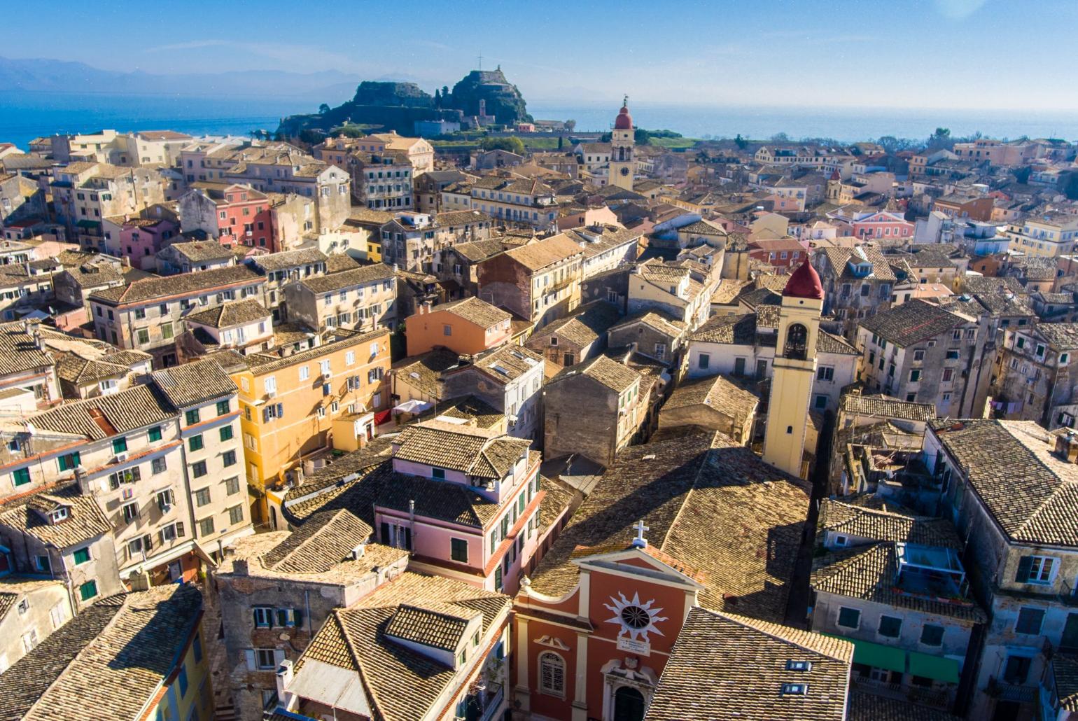
<svg viewBox="0 0 1078 721"><path fill-rule="evenodd" d="M1032 420L930 425L1012 541L1078 545L1078 466L1052 455L1045 429Z"/></svg>

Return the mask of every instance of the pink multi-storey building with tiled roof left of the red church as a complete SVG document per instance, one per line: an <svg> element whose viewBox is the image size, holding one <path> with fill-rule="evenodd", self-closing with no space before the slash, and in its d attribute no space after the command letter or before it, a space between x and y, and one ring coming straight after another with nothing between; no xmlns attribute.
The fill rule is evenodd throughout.
<svg viewBox="0 0 1078 721"><path fill-rule="evenodd" d="M414 570L514 594L540 538L540 454L530 441L428 420L393 439L393 477L374 503L379 541Z"/></svg>

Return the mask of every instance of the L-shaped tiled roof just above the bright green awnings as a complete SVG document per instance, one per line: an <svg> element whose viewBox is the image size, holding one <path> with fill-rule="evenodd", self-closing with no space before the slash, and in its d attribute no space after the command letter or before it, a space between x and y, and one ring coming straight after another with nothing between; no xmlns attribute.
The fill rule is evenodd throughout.
<svg viewBox="0 0 1078 721"><path fill-rule="evenodd" d="M898 578L898 552L895 543L883 541L828 553L813 560L810 586L813 591L858 598L945 615L960 621L984 623L987 615L975 601L965 604L939 600L895 587Z"/></svg>

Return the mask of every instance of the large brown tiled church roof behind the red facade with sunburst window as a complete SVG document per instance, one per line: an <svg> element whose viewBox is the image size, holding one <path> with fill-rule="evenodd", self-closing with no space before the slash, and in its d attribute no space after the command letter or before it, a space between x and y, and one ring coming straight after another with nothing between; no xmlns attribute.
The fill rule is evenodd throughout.
<svg viewBox="0 0 1078 721"><path fill-rule="evenodd" d="M578 579L575 554L628 547L633 524L642 518L649 547L703 574L702 606L782 620L807 510L804 482L723 434L667 435L618 454L540 561L531 586L555 597L567 593Z"/></svg>

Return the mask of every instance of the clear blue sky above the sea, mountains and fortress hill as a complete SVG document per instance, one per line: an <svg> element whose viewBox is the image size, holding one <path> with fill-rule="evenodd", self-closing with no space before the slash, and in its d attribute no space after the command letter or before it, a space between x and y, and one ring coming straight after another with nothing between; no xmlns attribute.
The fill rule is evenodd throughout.
<svg viewBox="0 0 1078 721"><path fill-rule="evenodd" d="M87 8L82 10L82 8ZM329 8L329 10L323 10ZM525 97L1076 110L1076 0L8 3L3 55L155 73L340 70ZM42 33L50 33L42 42Z"/></svg>

